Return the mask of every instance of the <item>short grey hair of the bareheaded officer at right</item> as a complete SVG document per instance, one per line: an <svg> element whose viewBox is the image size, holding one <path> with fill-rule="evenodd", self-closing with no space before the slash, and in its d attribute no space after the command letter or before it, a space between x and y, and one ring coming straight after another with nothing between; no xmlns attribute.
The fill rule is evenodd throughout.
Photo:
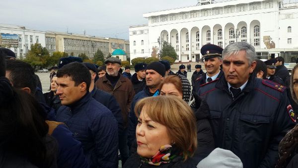
<svg viewBox="0 0 298 168"><path fill-rule="evenodd" d="M237 55L239 51L246 51L246 58L249 65L256 59L255 48L251 44L245 42L235 42L227 45L223 51L223 58L229 57L232 54Z"/></svg>

